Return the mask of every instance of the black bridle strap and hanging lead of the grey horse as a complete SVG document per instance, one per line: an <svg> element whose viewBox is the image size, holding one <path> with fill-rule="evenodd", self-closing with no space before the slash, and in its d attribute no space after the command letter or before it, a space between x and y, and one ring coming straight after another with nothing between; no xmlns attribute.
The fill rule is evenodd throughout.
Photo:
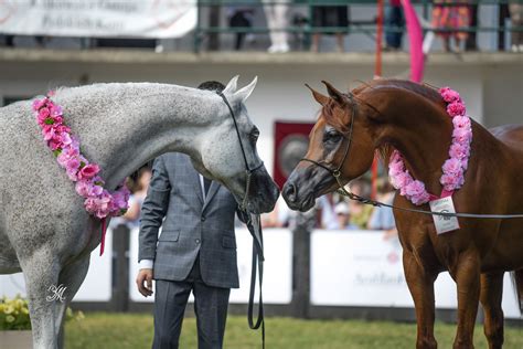
<svg viewBox="0 0 523 349"><path fill-rule="evenodd" d="M236 121L236 117L234 116L234 110L231 107L227 98L222 92L217 92L218 96L222 97L223 102L228 108L231 113L231 117L234 121L234 128L236 129L236 135L238 136L239 147L242 149L242 156L245 161L245 197L242 202L242 207L239 208L242 211L247 212L247 203L248 203L248 193L250 190L250 178L254 171L259 169L264 166L264 162L259 163L254 169L249 169L247 162L247 156L245 155L244 145L242 142L242 137L239 135L238 124ZM254 222L254 223L253 223ZM248 297L248 308L247 308L247 321L250 329L258 329L262 326L262 348L265 349L265 318L264 318L264 298L262 296L262 282L264 278L264 237L262 232L262 224L259 214L249 213L247 219L247 229L253 235L253 263L252 263L252 271L250 271L250 290ZM258 317L256 322L254 321L253 310L254 310L254 296L255 296L255 288L256 288L256 266L258 269L258 279L259 279L259 300L258 300Z"/></svg>

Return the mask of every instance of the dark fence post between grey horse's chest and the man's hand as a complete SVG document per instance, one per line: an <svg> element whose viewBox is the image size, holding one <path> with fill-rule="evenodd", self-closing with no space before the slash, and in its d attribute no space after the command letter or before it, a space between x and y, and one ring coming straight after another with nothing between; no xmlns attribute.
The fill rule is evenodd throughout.
<svg viewBox="0 0 523 349"><path fill-rule="evenodd" d="M110 309L129 309L129 234L127 225L120 224L113 230L113 292Z"/></svg>

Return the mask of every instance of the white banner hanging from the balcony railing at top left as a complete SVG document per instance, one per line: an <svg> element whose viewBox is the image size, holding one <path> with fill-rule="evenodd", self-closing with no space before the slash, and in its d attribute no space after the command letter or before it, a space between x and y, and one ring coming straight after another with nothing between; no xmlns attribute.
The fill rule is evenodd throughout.
<svg viewBox="0 0 523 349"><path fill-rule="evenodd" d="M0 1L0 34L167 39L196 21L196 0Z"/></svg>

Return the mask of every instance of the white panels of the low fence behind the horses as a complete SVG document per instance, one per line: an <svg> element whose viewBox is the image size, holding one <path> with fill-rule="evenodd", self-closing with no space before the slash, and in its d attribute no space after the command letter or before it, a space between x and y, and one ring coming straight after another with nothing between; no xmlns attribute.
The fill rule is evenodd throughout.
<svg viewBox="0 0 523 349"><path fill-rule="evenodd" d="M314 306L414 307L405 283L402 247L396 237L384 240L376 231L324 231L311 234L310 303ZM246 229L236 230L241 288L231 302L245 304L250 282L252 237ZM104 256L98 248L90 256L90 268L75 302L108 302L111 296L111 242L108 231ZM292 298L292 234L285 229L267 229L265 241L264 300L286 305ZM129 298L153 302L136 289L138 231L130 233ZM1 275L0 295L25 294L22 274ZM456 284L448 273L436 282L436 306L456 309ZM505 274L503 311L506 318L521 319L509 273Z"/></svg>

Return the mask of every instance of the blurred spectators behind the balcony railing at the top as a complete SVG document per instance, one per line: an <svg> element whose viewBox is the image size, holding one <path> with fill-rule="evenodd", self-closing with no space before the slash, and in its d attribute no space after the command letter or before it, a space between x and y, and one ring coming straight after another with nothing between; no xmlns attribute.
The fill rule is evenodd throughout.
<svg viewBox="0 0 523 349"><path fill-rule="evenodd" d="M238 1L242 2L242 1ZM361 19L357 15L351 17L349 4L320 6L312 4L306 7L295 7L290 0L263 0L262 7L254 4L227 4L223 13L226 25L232 29L235 35L234 50L244 50L247 46L256 46L260 38L259 28L268 29L269 53L285 53L290 50L309 50L311 52L332 50L330 45L322 45L322 38L335 38L334 49L337 52L346 51L345 45L350 41L345 36L350 34L351 28L359 25L376 24L377 19ZM248 3L248 2L247 2ZM384 12L384 39L383 49L386 51L407 50L404 45L403 36L405 31L405 18L401 0L387 0ZM479 8L477 1L472 0L434 0L431 1L431 14L427 21L423 20L425 28L431 28L434 33L441 39L445 51L459 52L463 50L478 50L476 42L476 29L479 23ZM212 10L211 10L212 11ZM520 28L510 31L510 47L514 52L523 52L523 4L514 0L509 3L499 4L499 24L505 27L505 19L509 27ZM259 20L262 19L262 21ZM223 25L223 24L220 24ZM311 28L307 31L306 28ZM488 27L488 25L487 25ZM256 28L256 30L255 30ZM289 29L292 29L290 31ZM301 30L300 30L301 29ZM217 35L209 33L209 35ZM267 34L263 34L267 36ZM2 33L0 32L0 36ZM7 46L15 46L17 41L13 35L3 35L0 43ZM34 36L34 45L46 46L50 38ZM157 52L164 50L160 40L146 39L81 39L82 46L128 46L128 47L152 47Z"/></svg>

